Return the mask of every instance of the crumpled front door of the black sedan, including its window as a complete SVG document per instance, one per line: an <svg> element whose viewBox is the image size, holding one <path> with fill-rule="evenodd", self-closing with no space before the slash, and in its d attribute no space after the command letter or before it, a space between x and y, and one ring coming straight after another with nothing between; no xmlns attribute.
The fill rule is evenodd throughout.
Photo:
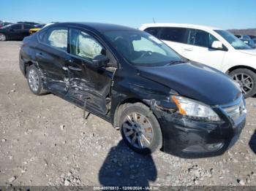
<svg viewBox="0 0 256 191"><path fill-rule="evenodd" d="M111 58L110 52L94 34L76 28L69 30L69 44L67 96L80 104L87 101L87 105L94 112L107 114L110 86L115 69L97 68L92 60L97 55L107 55Z"/></svg>

